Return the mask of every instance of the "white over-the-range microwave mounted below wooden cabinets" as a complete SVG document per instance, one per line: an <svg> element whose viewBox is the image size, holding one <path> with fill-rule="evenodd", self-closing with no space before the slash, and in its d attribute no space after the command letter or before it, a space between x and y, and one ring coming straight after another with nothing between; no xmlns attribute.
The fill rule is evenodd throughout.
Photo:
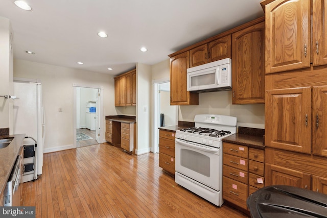
<svg viewBox="0 0 327 218"><path fill-rule="evenodd" d="M225 58L188 68L186 75L188 91L231 90L231 59Z"/></svg>

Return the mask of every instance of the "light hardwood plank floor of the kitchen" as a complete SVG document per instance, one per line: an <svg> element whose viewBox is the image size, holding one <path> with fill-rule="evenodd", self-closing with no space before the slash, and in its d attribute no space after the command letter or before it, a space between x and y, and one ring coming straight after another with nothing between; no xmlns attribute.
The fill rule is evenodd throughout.
<svg viewBox="0 0 327 218"><path fill-rule="evenodd" d="M177 185L158 154L107 143L44 154L43 174L22 187L22 204L36 206L36 217L247 217Z"/></svg>

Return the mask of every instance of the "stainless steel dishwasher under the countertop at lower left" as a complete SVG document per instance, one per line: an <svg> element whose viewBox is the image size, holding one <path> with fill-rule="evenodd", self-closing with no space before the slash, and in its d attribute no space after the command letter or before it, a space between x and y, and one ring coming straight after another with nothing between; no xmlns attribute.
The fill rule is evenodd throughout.
<svg viewBox="0 0 327 218"><path fill-rule="evenodd" d="M20 206L21 161L22 156L18 155L5 188L4 206Z"/></svg>

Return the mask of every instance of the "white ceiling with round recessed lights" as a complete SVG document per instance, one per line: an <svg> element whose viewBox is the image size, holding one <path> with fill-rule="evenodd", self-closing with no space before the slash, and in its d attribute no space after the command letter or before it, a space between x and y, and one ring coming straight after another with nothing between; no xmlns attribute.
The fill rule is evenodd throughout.
<svg viewBox="0 0 327 218"><path fill-rule="evenodd" d="M0 1L0 16L11 21L14 58L111 75L264 16L262 0L25 0L32 11L13 1Z"/></svg>

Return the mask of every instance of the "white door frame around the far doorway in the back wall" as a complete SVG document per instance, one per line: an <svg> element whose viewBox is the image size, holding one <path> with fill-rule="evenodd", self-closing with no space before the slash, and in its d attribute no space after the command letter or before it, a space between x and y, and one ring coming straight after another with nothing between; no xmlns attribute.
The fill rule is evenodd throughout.
<svg viewBox="0 0 327 218"><path fill-rule="evenodd" d="M81 87L81 88L94 88L94 89L99 89L100 90L100 97L99 97L99 108L97 108L97 110L99 110L99 139L100 139L100 142L103 143L103 122L101 122L101 120L105 120L105 117L104 117L104 114L103 114L103 86L89 86L89 85L82 85L82 84L76 84L76 83L73 83L73 144L74 144L74 147L77 148L77 142L76 142L76 128L77 128L77 125L76 125L76 122L77 122L77 119L76 119L76 116L77 116L77 113L76 113L76 109L77 109L77 87ZM97 127L96 127L97 128Z"/></svg>

